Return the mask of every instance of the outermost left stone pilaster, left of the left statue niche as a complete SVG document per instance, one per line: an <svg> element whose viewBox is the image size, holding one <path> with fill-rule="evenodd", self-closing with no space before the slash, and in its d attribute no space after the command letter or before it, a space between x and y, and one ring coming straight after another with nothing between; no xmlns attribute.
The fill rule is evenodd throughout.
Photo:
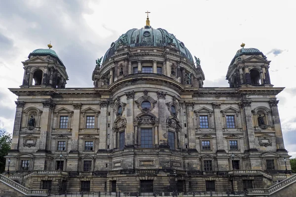
<svg viewBox="0 0 296 197"><path fill-rule="evenodd" d="M18 150L19 135L21 130L22 123L22 114L25 106L24 101L15 101L16 112L13 125L12 141L11 141L11 150ZM26 123L26 126L28 123Z"/></svg>

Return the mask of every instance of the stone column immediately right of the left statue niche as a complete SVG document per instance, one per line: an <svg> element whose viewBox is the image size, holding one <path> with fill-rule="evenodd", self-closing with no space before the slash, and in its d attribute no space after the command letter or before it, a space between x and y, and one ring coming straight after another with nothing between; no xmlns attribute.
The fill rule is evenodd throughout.
<svg viewBox="0 0 296 197"><path fill-rule="evenodd" d="M38 151L44 151L46 149L46 143L47 143L47 134L50 133L52 125L51 125L51 113L55 107L55 103L51 100L44 100L42 101L43 104L43 113L40 117L40 139L39 139L39 150ZM49 141L48 141L49 143Z"/></svg>

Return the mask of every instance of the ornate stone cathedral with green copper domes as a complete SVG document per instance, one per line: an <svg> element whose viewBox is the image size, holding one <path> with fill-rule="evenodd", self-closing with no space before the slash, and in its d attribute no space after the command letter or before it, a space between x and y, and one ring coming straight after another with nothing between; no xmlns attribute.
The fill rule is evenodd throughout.
<svg viewBox="0 0 296 197"><path fill-rule="evenodd" d="M52 45L34 50L21 86L9 89L18 99L5 176L31 190L160 196L288 178L276 99L284 88L271 84L259 49L234 54L229 87L205 88L199 58L147 17L96 60L93 87L67 88Z"/></svg>

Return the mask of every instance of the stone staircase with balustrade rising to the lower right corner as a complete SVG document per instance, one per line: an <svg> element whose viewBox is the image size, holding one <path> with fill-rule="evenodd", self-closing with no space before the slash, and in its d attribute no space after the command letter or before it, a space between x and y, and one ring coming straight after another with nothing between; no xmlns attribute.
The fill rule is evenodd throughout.
<svg viewBox="0 0 296 197"><path fill-rule="evenodd" d="M271 196L272 197L273 194L287 188L290 185L293 188L296 188L296 174L267 189L248 189L248 196L264 196L264 197ZM295 194L291 195L291 197L293 197L294 195ZM285 193L284 196L289 196L289 195Z"/></svg>

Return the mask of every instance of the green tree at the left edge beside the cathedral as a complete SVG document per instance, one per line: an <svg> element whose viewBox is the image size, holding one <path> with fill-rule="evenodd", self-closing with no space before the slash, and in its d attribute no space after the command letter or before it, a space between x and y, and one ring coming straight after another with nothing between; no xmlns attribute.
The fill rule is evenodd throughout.
<svg viewBox="0 0 296 197"><path fill-rule="evenodd" d="M0 130L0 173L5 170L5 161L4 158L11 146L11 134L6 131Z"/></svg>

